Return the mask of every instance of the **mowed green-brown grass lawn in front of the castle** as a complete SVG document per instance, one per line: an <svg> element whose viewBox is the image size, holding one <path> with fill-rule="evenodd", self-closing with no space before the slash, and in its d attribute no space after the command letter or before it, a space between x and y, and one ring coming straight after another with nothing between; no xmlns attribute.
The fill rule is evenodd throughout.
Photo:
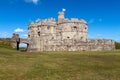
<svg viewBox="0 0 120 80"><path fill-rule="evenodd" d="M0 48L0 80L120 80L120 51L28 53Z"/></svg>

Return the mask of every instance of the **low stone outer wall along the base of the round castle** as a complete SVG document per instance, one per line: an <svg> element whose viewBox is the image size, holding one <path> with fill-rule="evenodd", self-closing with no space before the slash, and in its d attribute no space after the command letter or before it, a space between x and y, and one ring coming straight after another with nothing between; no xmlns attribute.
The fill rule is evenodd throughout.
<svg viewBox="0 0 120 80"><path fill-rule="evenodd" d="M115 42L109 39L88 39L86 42L69 39L40 41L39 43L41 43L39 47L29 47L28 51L102 51L115 49Z"/></svg>

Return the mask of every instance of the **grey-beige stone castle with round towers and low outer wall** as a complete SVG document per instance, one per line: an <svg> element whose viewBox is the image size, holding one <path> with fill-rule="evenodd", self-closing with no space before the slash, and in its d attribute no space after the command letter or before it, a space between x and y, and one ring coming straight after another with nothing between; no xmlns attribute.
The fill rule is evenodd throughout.
<svg viewBox="0 0 120 80"><path fill-rule="evenodd" d="M15 34L14 34L15 35ZM85 20L64 17L49 18L28 26L27 51L98 51L114 50L115 42L110 39L88 39L88 24Z"/></svg>

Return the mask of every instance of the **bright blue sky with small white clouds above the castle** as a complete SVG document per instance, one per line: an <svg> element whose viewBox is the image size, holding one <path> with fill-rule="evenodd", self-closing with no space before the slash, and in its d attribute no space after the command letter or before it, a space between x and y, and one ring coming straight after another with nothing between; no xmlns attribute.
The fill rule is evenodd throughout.
<svg viewBox="0 0 120 80"><path fill-rule="evenodd" d="M66 18L85 19L89 38L120 41L120 0L0 0L0 38L13 32L27 37L28 24L45 18L56 18L66 9Z"/></svg>

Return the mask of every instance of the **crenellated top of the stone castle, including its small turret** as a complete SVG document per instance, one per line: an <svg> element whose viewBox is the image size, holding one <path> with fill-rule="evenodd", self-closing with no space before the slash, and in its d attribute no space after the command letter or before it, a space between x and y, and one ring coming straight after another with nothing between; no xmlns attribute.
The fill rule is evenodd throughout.
<svg viewBox="0 0 120 80"><path fill-rule="evenodd" d="M58 22L56 21L55 18L48 18L45 20L40 20L36 23L31 22L29 24L29 27L34 27L34 26L56 26L57 24L63 24L63 23L80 23L80 24L86 24L87 22L83 19L79 20L78 18L71 18L67 19L64 18L64 12L58 12Z"/></svg>

